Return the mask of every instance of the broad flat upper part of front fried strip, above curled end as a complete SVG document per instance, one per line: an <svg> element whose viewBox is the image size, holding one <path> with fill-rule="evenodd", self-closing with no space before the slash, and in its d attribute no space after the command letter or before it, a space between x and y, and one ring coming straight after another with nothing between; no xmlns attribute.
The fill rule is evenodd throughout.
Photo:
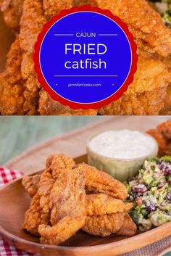
<svg viewBox="0 0 171 256"><path fill-rule="evenodd" d="M62 170L55 181L49 204L51 205L51 225L64 217L78 218L86 215L85 210L85 171L70 168Z"/></svg>

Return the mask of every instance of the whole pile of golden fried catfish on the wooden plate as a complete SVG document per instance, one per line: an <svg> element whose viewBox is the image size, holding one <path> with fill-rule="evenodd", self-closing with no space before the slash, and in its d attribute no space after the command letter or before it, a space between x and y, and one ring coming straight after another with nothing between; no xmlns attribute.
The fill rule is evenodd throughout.
<svg viewBox="0 0 171 256"><path fill-rule="evenodd" d="M95 236L133 236L127 189L109 174L64 154L51 155L41 175L22 179L32 197L22 228L43 244L61 244L82 229Z"/></svg>

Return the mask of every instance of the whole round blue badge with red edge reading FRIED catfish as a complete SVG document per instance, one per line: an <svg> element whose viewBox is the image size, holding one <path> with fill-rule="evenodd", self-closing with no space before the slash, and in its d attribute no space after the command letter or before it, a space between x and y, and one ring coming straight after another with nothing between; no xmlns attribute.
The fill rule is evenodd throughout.
<svg viewBox="0 0 171 256"><path fill-rule="evenodd" d="M53 99L72 108L99 108L133 81L136 46L111 12L80 7L52 18L38 37L38 80Z"/></svg>

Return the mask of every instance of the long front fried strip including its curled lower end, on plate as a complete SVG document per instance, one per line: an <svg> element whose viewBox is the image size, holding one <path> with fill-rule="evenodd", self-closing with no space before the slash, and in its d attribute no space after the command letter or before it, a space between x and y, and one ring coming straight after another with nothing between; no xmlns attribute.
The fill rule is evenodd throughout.
<svg viewBox="0 0 171 256"><path fill-rule="evenodd" d="M40 225L38 232L43 244L60 244L84 226L85 208L84 170L65 169L54 183L49 199L51 225Z"/></svg>

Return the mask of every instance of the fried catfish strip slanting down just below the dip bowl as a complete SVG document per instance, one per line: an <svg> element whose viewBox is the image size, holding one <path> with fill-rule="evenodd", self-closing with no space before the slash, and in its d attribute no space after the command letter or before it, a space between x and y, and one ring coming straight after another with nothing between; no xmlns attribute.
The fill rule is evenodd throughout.
<svg viewBox="0 0 171 256"><path fill-rule="evenodd" d="M86 164L80 164L78 168L86 171L86 189L88 191L100 192L117 199L126 199L128 196L125 185L108 173Z"/></svg>

